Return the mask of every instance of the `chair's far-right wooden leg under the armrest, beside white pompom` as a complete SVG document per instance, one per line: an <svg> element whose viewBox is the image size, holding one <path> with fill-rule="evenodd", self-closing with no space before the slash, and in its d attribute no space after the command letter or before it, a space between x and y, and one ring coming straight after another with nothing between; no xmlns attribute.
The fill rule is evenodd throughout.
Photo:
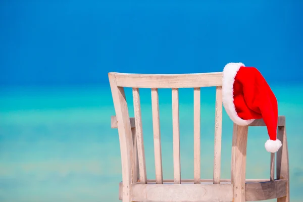
<svg viewBox="0 0 303 202"><path fill-rule="evenodd" d="M282 147L277 151L277 179L287 180L286 196L277 199L278 202L289 202L289 165L286 127L278 127L277 138L282 142Z"/></svg>

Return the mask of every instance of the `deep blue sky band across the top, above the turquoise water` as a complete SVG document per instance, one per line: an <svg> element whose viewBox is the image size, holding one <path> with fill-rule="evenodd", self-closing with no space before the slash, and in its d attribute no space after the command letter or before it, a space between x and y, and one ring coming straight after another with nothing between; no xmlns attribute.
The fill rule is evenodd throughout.
<svg viewBox="0 0 303 202"><path fill-rule="evenodd" d="M301 1L0 2L1 85L107 84L110 71L257 67L299 82Z"/></svg>

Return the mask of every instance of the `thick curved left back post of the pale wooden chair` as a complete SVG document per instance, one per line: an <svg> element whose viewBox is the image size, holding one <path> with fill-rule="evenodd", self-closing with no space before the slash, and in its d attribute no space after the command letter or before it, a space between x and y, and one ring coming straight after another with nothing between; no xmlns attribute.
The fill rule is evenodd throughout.
<svg viewBox="0 0 303 202"><path fill-rule="evenodd" d="M116 78L109 74L110 86L114 100L114 108L117 116L118 133L120 141L123 202L130 202L130 184L132 183L133 140L130 119L125 98L124 89L117 87Z"/></svg>

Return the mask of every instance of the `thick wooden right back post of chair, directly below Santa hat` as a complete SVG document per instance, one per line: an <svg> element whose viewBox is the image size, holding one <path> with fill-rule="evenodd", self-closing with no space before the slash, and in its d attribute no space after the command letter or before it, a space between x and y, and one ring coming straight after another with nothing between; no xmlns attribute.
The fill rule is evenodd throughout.
<svg viewBox="0 0 303 202"><path fill-rule="evenodd" d="M235 166L233 175L234 202L245 201L246 146L248 126L236 129Z"/></svg>

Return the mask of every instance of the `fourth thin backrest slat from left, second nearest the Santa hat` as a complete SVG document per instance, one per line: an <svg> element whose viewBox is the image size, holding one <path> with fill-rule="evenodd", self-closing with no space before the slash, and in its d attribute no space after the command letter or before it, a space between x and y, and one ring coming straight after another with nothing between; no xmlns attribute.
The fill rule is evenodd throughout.
<svg viewBox="0 0 303 202"><path fill-rule="evenodd" d="M200 183L200 88L193 89L193 178L194 183Z"/></svg>

